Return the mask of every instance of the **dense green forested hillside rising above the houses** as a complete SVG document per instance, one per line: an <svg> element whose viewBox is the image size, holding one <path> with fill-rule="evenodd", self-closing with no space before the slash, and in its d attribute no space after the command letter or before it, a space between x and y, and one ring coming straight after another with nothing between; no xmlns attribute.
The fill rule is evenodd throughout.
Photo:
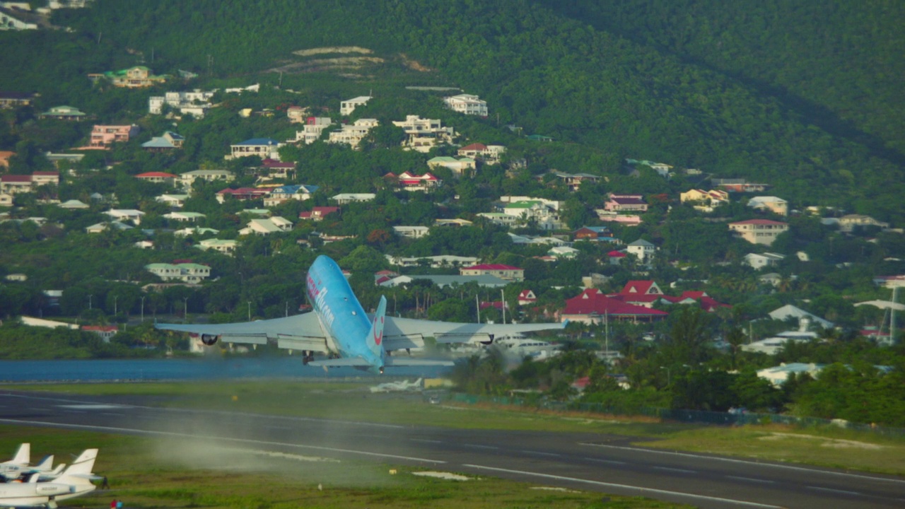
<svg viewBox="0 0 905 509"><path fill-rule="evenodd" d="M139 54L148 62L152 53L160 72L240 78L291 62L295 50L355 44L385 55L405 53L434 70L424 73L425 82L439 76L490 101L494 123L499 114L500 124L514 122L526 133L576 143L588 155L603 154L601 160L662 160L719 177L766 181L793 206L844 206L893 222L905 219L899 145L891 134L901 130L870 113L895 117L900 107L893 84L900 83L894 72L900 72L901 53L894 53L898 40L884 35L901 19L897 8L890 7L889 19L877 28L861 31L876 16L852 15L854 28L840 21L861 3L835 2L829 18L813 18L816 6L767 4L749 14L743 5L720 5L712 15L725 23L714 21L711 32L730 40L722 43L729 48L719 62L695 50L714 42L698 26L707 18L697 3L629 3L639 5L637 12L596 4L554 9L529 0L195 0L186 8L176 0L99 0L91 9L54 18L76 34L32 35L15 57L0 57L6 68L7 59L32 62L16 76L0 78L0 86L46 90L81 80L89 67L81 60L117 68L138 62ZM676 22L681 26L665 26L679 18L685 20ZM780 37L799 18L801 26ZM821 29L808 38L811 24ZM691 35L680 37L681 30ZM658 34L644 34L649 32ZM789 50L796 38L805 41L798 53ZM840 40L846 43L826 43ZM48 44L66 51L48 52ZM840 53L847 47L857 51ZM48 62L55 54L71 62L57 69ZM856 62L860 56L865 58ZM878 66L889 75L866 72ZM853 82L853 75L861 78ZM801 85L806 90L792 87L808 81ZM777 92L781 87L813 107L790 103L790 93ZM85 93L83 81L54 97L63 101L68 93ZM863 111L854 115L858 104ZM827 114L818 118L815 111Z"/></svg>

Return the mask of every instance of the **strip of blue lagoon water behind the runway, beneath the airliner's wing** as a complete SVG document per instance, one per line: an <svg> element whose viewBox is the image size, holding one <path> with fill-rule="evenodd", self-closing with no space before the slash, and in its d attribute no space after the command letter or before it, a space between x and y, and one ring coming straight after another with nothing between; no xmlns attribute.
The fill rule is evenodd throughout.
<svg viewBox="0 0 905 509"><path fill-rule="evenodd" d="M387 370L390 376L435 377L443 369L405 367ZM305 366L300 359L204 358L140 360L3 360L0 382L187 380L187 379L324 379L372 378L367 371Z"/></svg>

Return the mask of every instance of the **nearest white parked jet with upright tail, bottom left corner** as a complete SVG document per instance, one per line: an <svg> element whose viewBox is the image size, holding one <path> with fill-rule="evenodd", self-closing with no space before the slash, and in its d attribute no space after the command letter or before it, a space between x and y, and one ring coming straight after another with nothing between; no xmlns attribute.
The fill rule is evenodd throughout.
<svg viewBox="0 0 905 509"><path fill-rule="evenodd" d="M62 475L53 482L39 483L33 475L27 483L0 483L0 507L47 507L55 509L57 502L93 491L95 478L91 474L98 449L86 449Z"/></svg>

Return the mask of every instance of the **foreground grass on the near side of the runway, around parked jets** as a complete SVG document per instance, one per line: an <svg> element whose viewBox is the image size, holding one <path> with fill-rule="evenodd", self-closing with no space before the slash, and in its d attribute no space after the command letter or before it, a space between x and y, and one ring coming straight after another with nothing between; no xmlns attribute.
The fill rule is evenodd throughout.
<svg viewBox="0 0 905 509"><path fill-rule="evenodd" d="M140 437L0 426L0 451L12 454L22 442L32 454L55 454L65 462L87 447L99 447L94 472L107 475L110 490L62 502L63 507L107 507L110 500L145 508L680 508L641 497L553 489L496 479L467 480L416 475L407 466L339 462L304 456L266 457L243 470L221 465L174 464L161 459L160 447L197 447L189 443L150 445ZM235 451L247 456L248 451ZM218 455L220 456L220 455ZM220 456L223 457L223 456Z"/></svg>

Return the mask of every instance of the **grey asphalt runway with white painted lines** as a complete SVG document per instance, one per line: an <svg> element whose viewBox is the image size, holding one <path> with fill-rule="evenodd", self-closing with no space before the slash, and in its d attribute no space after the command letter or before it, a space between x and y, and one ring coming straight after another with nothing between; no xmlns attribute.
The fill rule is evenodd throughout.
<svg viewBox="0 0 905 509"><path fill-rule="evenodd" d="M14 391L0 393L0 424L206 437L230 447L424 466L705 508L905 507L902 477L649 449L614 435L397 426L159 408L140 396Z"/></svg>

